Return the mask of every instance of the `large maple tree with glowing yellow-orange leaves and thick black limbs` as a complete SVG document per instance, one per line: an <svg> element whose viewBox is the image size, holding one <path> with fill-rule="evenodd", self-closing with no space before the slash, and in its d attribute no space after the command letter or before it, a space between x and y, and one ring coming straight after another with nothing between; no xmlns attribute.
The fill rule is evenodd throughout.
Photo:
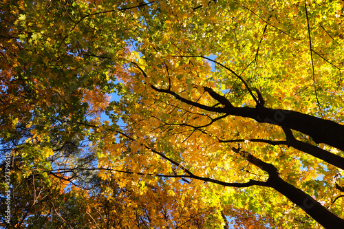
<svg viewBox="0 0 344 229"><path fill-rule="evenodd" d="M76 153L72 161L78 166L69 159L58 170L52 166L39 173L69 177L76 186L85 187L92 184L87 171L98 171L109 185L100 199L118 200L118 195L110 194L119 187L129 190L130 201L138 206L138 195L151 197L150 204L163 201L166 205L159 206L169 210L160 212L174 214L164 219L167 227L176 227L173 223L184 216L171 209L183 195L202 199L187 208L189 215L197 215L196 208L211 212L190 218L202 221L202 227L223 228L226 214L238 221L252 215L256 226L268 219L276 228L344 227L343 2L104 0L56 6L43 2L36 8L47 8L39 14L45 25L26 31L26 24L36 20L35 10L28 6L19 6L24 11L13 16L22 31L17 46L25 46L22 54L34 56L32 50L44 44L43 50L50 52L36 55L56 61L48 69L54 69L52 76L60 73L61 82L71 82L75 99L64 100L73 101L72 106L58 103L65 114L42 109L41 98L25 112L4 108L10 117L21 116L23 121L12 118L2 128L19 129L21 123L40 117L40 122L27 127L35 130L28 138L35 138L35 133L63 136L53 122L47 122L55 117L63 120L61 129L72 130L58 144L67 146L76 139L92 142L85 146L87 163ZM60 10L50 12L52 7ZM61 15L63 19L57 21ZM47 44L50 36L41 34L54 39ZM11 52L4 53L9 60L6 55ZM7 62L6 69L12 71ZM30 66L32 72L37 64ZM3 71L1 76L17 79L28 70L18 71ZM42 76L36 81L56 93L64 88ZM106 108L111 123L96 114L104 106L91 105L99 107L112 89L121 100ZM15 94L8 89L1 93ZM32 116L32 109L39 112ZM80 111L84 118L74 118ZM40 123L47 127L44 131ZM19 134L5 140L11 142L14 136ZM54 145L52 140L46 142ZM34 149L37 144L31 143L19 142L14 148ZM80 147L74 145L73 151L78 151ZM54 146L56 152L62 147ZM35 166L28 171L32 173ZM102 189L100 184L94 186ZM157 192L166 193L166 198L153 197ZM149 212L150 204L141 209ZM99 208L104 215L107 207ZM149 213L136 212L140 212L138 228L161 223L158 214L154 221ZM130 218L132 211L122 214ZM114 227L106 222L108 228Z"/></svg>

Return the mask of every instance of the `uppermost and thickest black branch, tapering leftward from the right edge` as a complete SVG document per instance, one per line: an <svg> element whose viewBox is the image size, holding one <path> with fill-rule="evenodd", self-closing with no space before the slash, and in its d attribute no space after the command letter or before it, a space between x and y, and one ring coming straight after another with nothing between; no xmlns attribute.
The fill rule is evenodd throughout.
<svg viewBox="0 0 344 229"><path fill-rule="evenodd" d="M141 67L139 67L136 63L133 64L140 69L145 77L147 77L147 74L144 73ZM232 116L252 118L257 120L257 122L266 122L278 125L280 127L294 129L295 131L300 131L301 133L310 135L314 142L318 144L325 143L344 151L344 126L331 120L316 118L314 116L297 111L269 109L266 107L259 107L259 109L252 107L208 107L198 102L193 102L186 98L182 98L182 96L169 89L158 89L153 85L151 85L151 88L161 93L170 94L181 102L185 102L188 105L198 107L206 111L227 113L228 115ZM257 98L255 99L257 100Z"/></svg>

